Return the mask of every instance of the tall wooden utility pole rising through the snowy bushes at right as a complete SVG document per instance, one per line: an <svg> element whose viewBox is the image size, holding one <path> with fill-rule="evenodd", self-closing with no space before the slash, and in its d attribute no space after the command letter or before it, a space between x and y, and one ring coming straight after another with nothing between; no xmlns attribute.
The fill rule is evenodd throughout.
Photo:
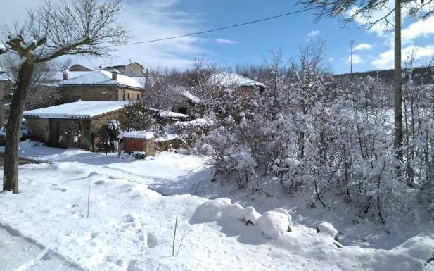
<svg viewBox="0 0 434 271"><path fill-rule="evenodd" d="M395 0L395 155L402 160L401 1ZM398 175L400 170L398 169Z"/></svg>

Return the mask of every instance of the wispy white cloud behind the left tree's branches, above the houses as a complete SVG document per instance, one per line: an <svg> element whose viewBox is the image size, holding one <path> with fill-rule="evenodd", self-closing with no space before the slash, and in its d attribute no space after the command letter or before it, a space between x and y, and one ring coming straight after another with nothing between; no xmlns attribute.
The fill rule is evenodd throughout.
<svg viewBox="0 0 434 271"><path fill-rule="evenodd" d="M160 39L203 30L199 26L203 25L203 20L197 15L181 12L177 9L179 1L124 0L122 4L125 6L125 10L121 11L119 19L126 23L129 34L132 36L129 42ZM23 20L26 15L25 8L31 8L43 2L44 0L5 1L5 5L1 4L0 18L8 24L13 23L15 18L16 20ZM193 56L209 53L205 49L203 41L204 39L200 37L182 37L164 42L120 46L117 47L118 51L113 52L112 59L91 58L89 61L88 58L82 56L69 58L92 66L108 64L110 61L112 63L126 63L131 59L145 67L160 65L184 68L191 65Z"/></svg>

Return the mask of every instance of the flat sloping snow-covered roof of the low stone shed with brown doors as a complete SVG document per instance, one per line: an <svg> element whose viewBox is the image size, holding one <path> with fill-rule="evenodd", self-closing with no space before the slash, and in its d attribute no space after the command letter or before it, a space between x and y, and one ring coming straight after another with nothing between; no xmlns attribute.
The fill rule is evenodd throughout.
<svg viewBox="0 0 434 271"><path fill-rule="evenodd" d="M122 109L129 101L75 101L59 106L39 108L23 113L23 118L93 118L112 111Z"/></svg>

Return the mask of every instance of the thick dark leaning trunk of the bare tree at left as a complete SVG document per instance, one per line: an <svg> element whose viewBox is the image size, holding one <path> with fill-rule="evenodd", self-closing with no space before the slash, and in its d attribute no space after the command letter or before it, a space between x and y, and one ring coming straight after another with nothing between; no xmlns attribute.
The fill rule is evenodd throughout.
<svg viewBox="0 0 434 271"><path fill-rule="evenodd" d="M23 118L27 89L29 89L32 80L33 65L32 61L28 60L21 65L6 124L3 190L13 191L14 194L18 193L18 144L20 142L21 119Z"/></svg>

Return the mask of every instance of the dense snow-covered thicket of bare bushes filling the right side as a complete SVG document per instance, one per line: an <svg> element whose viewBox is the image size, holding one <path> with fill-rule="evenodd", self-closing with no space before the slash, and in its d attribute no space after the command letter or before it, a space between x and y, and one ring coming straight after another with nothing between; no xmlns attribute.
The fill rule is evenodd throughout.
<svg viewBox="0 0 434 271"><path fill-rule="evenodd" d="M311 207L333 208L333 197L342 196L360 216L380 222L416 199L434 213L432 85L406 71L399 160L390 84L332 77L321 68L321 52L311 49L291 67L273 54L263 68L269 74L262 74L268 89L249 103L234 97L232 108L209 109L212 129L196 149L212 158L216 178L259 191L267 189L263 183L281 184L288 193L312 194Z"/></svg>

